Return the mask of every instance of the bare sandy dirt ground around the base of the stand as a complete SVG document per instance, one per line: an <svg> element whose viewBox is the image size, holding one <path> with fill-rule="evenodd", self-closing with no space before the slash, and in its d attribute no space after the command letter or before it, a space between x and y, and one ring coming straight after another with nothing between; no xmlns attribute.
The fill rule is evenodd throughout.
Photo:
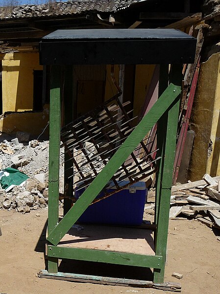
<svg viewBox="0 0 220 294"><path fill-rule="evenodd" d="M174 293L161 290L104 286L40 279L37 272L45 269L42 230L47 210L20 214L0 210L0 293L5 294L117 294ZM182 294L220 294L220 241L204 224L195 220L170 221L168 262L165 281L180 282ZM172 272L183 274L181 280Z"/></svg>

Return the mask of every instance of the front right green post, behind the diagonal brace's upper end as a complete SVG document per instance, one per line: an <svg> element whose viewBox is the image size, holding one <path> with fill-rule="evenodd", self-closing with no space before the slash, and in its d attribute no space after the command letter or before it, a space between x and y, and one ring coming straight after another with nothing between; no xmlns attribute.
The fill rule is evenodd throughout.
<svg viewBox="0 0 220 294"><path fill-rule="evenodd" d="M182 82L181 77L182 65L173 66L171 73L171 82L174 82L176 86L180 86ZM169 227L172 172L175 158L179 105L180 95L176 98L176 100L172 103L170 109L168 110L166 138L165 144L163 144L164 155L162 158L161 166L161 195L158 203L157 230L155 242L155 253L156 255L163 256L163 259L161 262L161 270L154 269L153 279L155 283L164 282L165 262L167 255L167 238Z"/></svg>

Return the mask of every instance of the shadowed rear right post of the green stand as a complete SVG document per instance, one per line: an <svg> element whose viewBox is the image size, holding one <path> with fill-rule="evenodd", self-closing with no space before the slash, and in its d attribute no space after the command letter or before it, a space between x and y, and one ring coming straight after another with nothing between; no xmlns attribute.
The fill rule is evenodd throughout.
<svg viewBox="0 0 220 294"><path fill-rule="evenodd" d="M169 65L162 64L160 65L160 75L159 75L159 91L158 97L167 89L169 82ZM158 164L158 172L156 174L156 196L155 196L155 215L154 222L157 224L158 221L158 206L161 196L161 174L162 174L162 165L163 165L163 157L164 157L164 142L166 138L166 129L167 126L167 112L163 114L163 116L157 122L157 148L159 148L157 152L157 156L161 157L160 160L157 161Z"/></svg>

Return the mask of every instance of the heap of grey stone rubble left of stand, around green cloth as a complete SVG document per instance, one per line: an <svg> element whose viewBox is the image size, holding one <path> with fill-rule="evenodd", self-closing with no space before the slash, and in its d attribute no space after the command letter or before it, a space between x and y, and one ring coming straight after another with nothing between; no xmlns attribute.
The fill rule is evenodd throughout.
<svg viewBox="0 0 220 294"><path fill-rule="evenodd" d="M25 133L24 133L25 134ZM0 189L0 209L29 213L48 205L49 141L27 141L24 137L0 143L0 170L14 168L29 178L10 191ZM19 135L19 134L18 134ZM17 136L19 137L19 136ZM23 140L23 143L19 143ZM60 149L60 193L63 194L64 148ZM62 206L62 203L60 202Z"/></svg>

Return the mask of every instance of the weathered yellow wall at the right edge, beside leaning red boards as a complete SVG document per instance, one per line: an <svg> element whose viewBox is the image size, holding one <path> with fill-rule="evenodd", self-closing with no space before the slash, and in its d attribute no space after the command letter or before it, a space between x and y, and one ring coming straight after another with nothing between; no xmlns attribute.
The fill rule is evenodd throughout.
<svg viewBox="0 0 220 294"><path fill-rule="evenodd" d="M201 64L191 121L196 135L189 179L220 175L220 53Z"/></svg>

